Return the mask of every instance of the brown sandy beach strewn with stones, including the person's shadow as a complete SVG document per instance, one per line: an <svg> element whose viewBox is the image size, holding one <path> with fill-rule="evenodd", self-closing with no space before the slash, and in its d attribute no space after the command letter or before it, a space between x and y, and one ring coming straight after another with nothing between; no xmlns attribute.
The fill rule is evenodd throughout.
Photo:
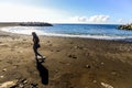
<svg viewBox="0 0 132 88"><path fill-rule="evenodd" d="M0 88L132 88L132 43L40 36L0 31Z"/></svg>

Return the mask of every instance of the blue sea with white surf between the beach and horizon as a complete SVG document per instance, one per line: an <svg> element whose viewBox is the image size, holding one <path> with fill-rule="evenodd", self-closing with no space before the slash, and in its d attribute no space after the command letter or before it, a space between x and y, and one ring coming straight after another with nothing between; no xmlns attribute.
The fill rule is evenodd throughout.
<svg viewBox="0 0 132 88"><path fill-rule="evenodd" d="M36 32L38 35L84 37L98 40L132 40L132 31L118 30L118 24L53 24L53 26L8 26L2 31L28 34Z"/></svg>

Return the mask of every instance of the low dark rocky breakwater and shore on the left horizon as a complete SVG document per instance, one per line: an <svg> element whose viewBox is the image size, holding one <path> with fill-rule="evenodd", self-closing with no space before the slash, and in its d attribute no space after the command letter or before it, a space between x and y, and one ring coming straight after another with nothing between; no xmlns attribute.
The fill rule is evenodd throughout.
<svg viewBox="0 0 132 88"><path fill-rule="evenodd" d="M46 22L0 22L0 26L53 26Z"/></svg>

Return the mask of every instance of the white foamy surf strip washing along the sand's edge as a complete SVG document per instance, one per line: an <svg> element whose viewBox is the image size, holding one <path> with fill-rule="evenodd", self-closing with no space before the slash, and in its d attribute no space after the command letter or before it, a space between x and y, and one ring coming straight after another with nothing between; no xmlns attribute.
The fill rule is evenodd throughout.
<svg viewBox="0 0 132 88"><path fill-rule="evenodd" d="M32 32L36 32L38 35L45 35L45 36L61 36L61 37L81 37L81 38L96 38L96 40L122 40L132 42L132 36L121 36L121 35L96 35L96 34L63 34L63 33L46 33L42 30L36 30L36 28L29 28L29 26L14 26L14 28L2 28L0 29L4 32L11 32L16 34L28 34L31 35Z"/></svg>

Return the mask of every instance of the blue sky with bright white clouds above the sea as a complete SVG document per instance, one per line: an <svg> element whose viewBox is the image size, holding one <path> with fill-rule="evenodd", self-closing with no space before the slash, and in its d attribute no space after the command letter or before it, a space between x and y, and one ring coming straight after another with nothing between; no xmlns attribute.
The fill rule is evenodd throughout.
<svg viewBox="0 0 132 88"><path fill-rule="evenodd" d="M0 22L132 23L132 0L0 0Z"/></svg>

